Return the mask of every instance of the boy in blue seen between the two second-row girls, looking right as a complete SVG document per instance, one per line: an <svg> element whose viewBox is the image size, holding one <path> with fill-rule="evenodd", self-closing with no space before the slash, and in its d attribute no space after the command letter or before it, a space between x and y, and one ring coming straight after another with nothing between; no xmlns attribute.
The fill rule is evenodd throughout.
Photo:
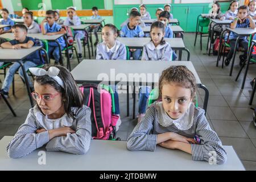
<svg viewBox="0 0 256 182"><path fill-rule="evenodd" d="M141 14L138 11L131 11L130 20L126 26L123 26L120 31L121 37L126 38L141 38L144 36L144 32L139 25L139 20L141 19ZM141 49L130 49L130 54L133 55L134 60L139 60L141 56Z"/></svg>

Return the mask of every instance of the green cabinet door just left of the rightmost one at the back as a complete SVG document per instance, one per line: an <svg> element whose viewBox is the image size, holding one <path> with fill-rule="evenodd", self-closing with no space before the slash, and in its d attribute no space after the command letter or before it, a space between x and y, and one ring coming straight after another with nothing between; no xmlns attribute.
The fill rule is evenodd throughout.
<svg viewBox="0 0 256 182"><path fill-rule="evenodd" d="M188 6L176 6L173 8L172 14L179 20L180 27L187 31Z"/></svg>

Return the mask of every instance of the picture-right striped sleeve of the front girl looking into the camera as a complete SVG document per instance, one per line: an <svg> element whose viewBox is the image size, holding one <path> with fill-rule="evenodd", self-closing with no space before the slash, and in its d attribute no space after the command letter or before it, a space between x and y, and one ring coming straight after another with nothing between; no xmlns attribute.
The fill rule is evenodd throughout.
<svg viewBox="0 0 256 182"><path fill-rule="evenodd" d="M210 129L203 109L199 110L197 117L196 134L200 136L202 143L191 144L193 160L205 160L212 164L226 163L226 151L217 134Z"/></svg>

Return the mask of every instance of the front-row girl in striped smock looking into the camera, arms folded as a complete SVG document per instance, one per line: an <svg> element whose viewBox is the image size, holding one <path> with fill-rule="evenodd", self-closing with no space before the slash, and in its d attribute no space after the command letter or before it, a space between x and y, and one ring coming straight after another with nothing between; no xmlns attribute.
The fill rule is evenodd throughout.
<svg viewBox="0 0 256 182"><path fill-rule="evenodd" d="M130 134L128 150L155 151L159 144L187 152L193 160L226 162L226 151L215 131L210 129L204 110L193 104L195 80L183 65L171 66L162 72L159 100L148 106L145 117ZM212 156L216 157L213 161Z"/></svg>

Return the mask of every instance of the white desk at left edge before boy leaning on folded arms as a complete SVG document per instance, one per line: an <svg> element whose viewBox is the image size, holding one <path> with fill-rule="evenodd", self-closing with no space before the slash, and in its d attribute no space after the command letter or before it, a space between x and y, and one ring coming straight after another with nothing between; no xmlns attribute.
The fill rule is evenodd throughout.
<svg viewBox="0 0 256 182"><path fill-rule="evenodd" d="M3 34L5 35L5 34ZM32 53L39 51L40 49L42 49L42 47L31 47L29 49L2 49L0 48L0 61L5 61L5 62L18 62L21 67L22 67L22 71L23 71L23 75L25 78L25 83L27 86L27 92L28 92L28 97L30 98L30 104L31 106L34 105L33 103L33 99L31 97L31 90L30 90L30 86L28 84L28 78L26 76L26 70L23 67L23 63L22 60L26 59L27 56L31 55Z"/></svg>

